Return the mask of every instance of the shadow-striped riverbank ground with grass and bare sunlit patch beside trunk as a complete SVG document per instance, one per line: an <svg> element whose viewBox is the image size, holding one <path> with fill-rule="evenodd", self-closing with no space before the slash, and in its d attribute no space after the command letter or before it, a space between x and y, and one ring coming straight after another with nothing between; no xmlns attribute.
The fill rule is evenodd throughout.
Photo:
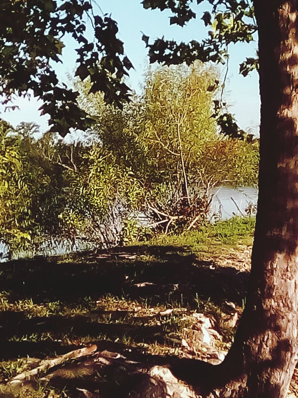
<svg viewBox="0 0 298 398"><path fill-rule="evenodd" d="M108 371L108 355L147 367L175 358L220 363L245 303L252 223L2 263L0 396L122 396L127 377ZM85 359L65 356L83 347L93 350Z"/></svg>

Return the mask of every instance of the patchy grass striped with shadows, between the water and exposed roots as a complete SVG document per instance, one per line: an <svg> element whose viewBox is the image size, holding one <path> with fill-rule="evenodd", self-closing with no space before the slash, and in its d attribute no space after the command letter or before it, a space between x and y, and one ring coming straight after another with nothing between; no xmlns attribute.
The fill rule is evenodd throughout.
<svg viewBox="0 0 298 398"><path fill-rule="evenodd" d="M135 246L0 264L0 383L93 342L132 359L182 357L194 312L220 325L227 300L241 313L253 227L236 218ZM234 330L219 328L228 349ZM40 396L48 387L37 386Z"/></svg>

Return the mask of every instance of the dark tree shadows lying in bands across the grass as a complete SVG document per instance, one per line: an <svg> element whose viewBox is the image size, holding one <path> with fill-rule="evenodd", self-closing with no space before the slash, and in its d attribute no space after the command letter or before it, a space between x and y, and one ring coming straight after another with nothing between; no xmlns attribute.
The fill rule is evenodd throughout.
<svg viewBox="0 0 298 398"><path fill-rule="evenodd" d="M101 340L104 349L118 352L131 341L164 343L175 325L165 328L152 321L156 315L149 319L131 306L117 308L117 299L144 308L194 310L205 301L221 305L225 300L242 305L247 284L248 273L197 261L194 254L172 246L98 250L68 261L39 257L2 263L0 286L7 301L0 312L0 361L65 353L86 336L86 343ZM108 301L101 303L107 296L111 307ZM15 302L21 304L15 307ZM36 313L30 303L37 306ZM43 313L45 305L49 309ZM71 337L66 341L65 336ZM119 339L126 344L113 343Z"/></svg>

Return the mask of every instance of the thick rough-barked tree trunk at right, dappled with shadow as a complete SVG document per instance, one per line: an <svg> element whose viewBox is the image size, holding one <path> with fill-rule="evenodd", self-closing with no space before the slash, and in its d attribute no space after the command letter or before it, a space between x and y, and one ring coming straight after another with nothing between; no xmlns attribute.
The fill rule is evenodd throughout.
<svg viewBox="0 0 298 398"><path fill-rule="evenodd" d="M261 93L258 212L247 305L222 367L233 367L251 398L283 398L298 358L298 2L254 3Z"/></svg>

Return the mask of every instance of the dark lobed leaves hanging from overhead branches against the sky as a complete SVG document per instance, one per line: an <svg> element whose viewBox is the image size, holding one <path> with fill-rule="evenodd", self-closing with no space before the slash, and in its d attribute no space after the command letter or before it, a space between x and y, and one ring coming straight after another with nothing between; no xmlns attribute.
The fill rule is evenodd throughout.
<svg viewBox="0 0 298 398"><path fill-rule="evenodd" d="M203 1L196 0L196 3ZM171 10L170 24L180 26L196 18L192 3L193 0L142 2L145 9ZM190 65L194 60L224 63L230 43L253 40L257 26L250 0L208 0L207 3L210 10L204 12L201 19L210 26L210 31L201 43L196 40L175 43L164 38L151 43L149 36L143 35L151 63ZM95 15L92 3L82 0L5 0L0 7L2 105L9 107L15 95L39 98L43 102L41 114L50 116L50 130L62 137L71 128L86 130L94 123L92 115L78 106L78 92L60 81L55 72L54 63L62 62L63 41L67 35L77 42L75 76L81 81L90 78L90 92L103 92L104 100L120 109L130 101L130 88L124 78L133 65L118 38L117 23L108 14ZM93 41L86 35L88 23L94 30ZM258 61L249 58L240 65L240 72L246 76L253 68L258 68ZM219 111L219 107L216 110ZM242 136L228 113L218 118L218 124L223 133L233 130L234 136Z"/></svg>

